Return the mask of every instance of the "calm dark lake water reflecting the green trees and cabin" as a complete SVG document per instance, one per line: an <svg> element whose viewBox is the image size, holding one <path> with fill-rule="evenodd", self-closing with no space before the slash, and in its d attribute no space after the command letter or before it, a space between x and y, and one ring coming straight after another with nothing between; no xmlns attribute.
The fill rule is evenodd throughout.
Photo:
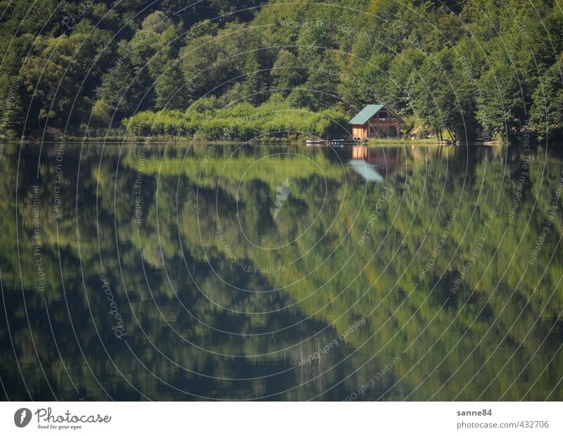
<svg viewBox="0 0 563 436"><path fill-rule="evenodd" d="M563 399L555 153L4 143L0 169L4 399Z"/></svg>

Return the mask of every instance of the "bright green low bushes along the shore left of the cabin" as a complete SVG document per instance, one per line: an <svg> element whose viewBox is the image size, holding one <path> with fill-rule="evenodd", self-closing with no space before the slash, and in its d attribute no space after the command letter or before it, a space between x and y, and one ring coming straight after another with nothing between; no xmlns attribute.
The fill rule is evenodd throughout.
<svg viewBox="0 0 563 436"><path fill-rule="evenodd" d="M212 100L212 99L209 99ZM313 113L283 101L214 108L213 101L181 110L145 111L123 121L132 136L181 136L208 140L346 136L348 117L337 108Z"/></svg>

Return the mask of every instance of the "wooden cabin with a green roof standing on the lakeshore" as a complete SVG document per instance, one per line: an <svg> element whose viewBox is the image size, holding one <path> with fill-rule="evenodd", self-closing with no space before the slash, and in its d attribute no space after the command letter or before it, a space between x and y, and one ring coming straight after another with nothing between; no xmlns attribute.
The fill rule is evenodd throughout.
<svg viewBox="0 0 563 436"><path fill-rule="evenodd" d="M352 137L394 138L400 134L400 124L404 121L384 105L367 105L352 118Z"/></svg>

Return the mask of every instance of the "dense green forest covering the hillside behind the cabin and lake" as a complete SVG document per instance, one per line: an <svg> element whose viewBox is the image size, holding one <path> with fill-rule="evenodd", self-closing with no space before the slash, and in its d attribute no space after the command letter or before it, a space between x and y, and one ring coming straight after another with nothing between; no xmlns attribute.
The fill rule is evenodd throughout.
<svg viewBox="0 0 563 436"><path fill-rule="evenodd" d="M563 130L555 0L3 0L0 11L3 136L336 134L366 103L461 141Z"/></svg>

